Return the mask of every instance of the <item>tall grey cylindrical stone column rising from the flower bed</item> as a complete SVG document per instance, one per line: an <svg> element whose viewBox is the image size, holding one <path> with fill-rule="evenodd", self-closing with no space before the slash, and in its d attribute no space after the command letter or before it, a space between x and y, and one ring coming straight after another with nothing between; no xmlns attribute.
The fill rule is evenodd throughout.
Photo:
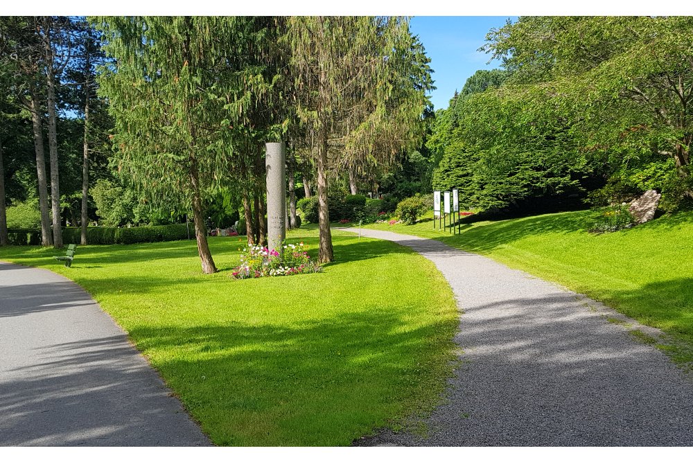
<svg viewBox="0 0 693 462"><path fill-rule="evenodd" d="M286 239L286 144L265 143L267 168L267 247L282 255Z"/></svg>

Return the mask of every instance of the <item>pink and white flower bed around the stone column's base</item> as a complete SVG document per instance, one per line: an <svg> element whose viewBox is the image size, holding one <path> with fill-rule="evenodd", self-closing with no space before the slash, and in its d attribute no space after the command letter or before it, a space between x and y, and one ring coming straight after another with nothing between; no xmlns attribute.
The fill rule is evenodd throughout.
<svg viewBox="0 0 693 462"><path fill-rule="evenodd" d="M263 276L290 276L292 274L317 273L322 267L313 263L306 246L287 244L283 246L283 260L279 252L255 245L243 249L240 265L231 273L236 279L261 278Z"/></svg>

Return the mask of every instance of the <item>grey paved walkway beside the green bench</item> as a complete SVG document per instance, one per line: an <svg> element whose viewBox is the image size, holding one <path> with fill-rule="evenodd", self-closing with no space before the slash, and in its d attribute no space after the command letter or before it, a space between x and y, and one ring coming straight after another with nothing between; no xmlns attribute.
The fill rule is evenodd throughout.
<svg viewBox="0 0 693 462"><path fill-rule="evenodd" d="M210 443L89 294L0 262L0 446L19 445Z"/></svg>

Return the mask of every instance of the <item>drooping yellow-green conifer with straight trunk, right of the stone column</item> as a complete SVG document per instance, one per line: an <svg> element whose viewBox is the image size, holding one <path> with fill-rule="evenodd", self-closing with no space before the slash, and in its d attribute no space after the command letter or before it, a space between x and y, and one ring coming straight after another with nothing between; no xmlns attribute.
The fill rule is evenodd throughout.
<svg viewBox="0 0 693 462"><path fill-rule="evenodd" d="M415 61L403 18L291 17L286 43L297 114L315 152L319 261L326 263L333 260L328 171L353 168L362 162L357 155L392 157L413 135L425 89L405 74Z"/></svg>

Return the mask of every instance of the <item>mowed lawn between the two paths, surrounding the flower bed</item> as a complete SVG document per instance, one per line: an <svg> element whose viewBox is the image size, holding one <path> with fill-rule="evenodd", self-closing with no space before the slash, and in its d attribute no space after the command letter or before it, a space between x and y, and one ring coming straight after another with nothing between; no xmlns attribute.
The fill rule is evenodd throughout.
<svg viewBox="0 0 693 462"><path fill-rule="evenodd" d="M458 314L428 260L390 242L333 232L322 274L235 281L238 238L211 238L217 274L194 241L55 249L0 260L76 281L128 332L218 445L349 445L416 422L453 370ZM288 233L317 253L317 232ZM64 254L64 252L62 252Z"/></svg>

